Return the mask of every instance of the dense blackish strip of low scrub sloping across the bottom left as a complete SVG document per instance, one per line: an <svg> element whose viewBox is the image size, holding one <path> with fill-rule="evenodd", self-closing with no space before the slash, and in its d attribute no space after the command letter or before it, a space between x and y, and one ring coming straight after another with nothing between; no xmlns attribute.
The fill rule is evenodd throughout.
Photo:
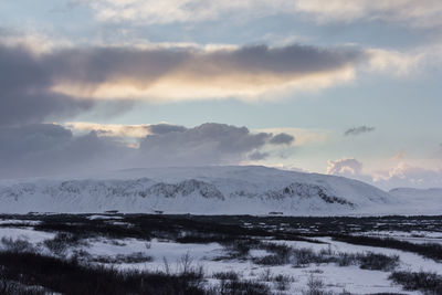
<svg viewBox="0 0 442 295"><path fill-rule="evenodd" d="M66 295L207 294L201 287L200 274L191 272L167 275L118 271L36 253L0 252L0 270L2 282L39 285Z"/></svg>

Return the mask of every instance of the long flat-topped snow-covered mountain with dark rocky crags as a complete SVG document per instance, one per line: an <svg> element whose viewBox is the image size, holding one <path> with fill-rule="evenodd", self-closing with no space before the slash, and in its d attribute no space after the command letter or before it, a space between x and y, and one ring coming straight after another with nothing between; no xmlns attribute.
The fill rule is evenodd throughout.
<svg viewBox="0 0 442 295"><path fill-rule="evenodd" d="M254 166L129 169L0 183L0 212L381 213L397 197L344 177Z"/></svg>

